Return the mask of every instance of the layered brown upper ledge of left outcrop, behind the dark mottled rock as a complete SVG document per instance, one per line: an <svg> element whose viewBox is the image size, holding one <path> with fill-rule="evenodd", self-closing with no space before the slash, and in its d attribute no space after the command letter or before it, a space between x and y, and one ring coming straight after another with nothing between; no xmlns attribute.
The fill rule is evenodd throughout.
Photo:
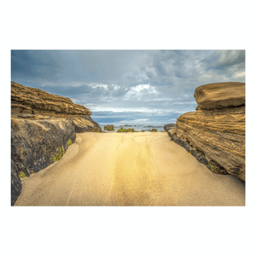
<svg viewBox="0 0 256 256"><path fill-rule="evenodd" d="M50 94L44 90L11 82L11 114L21 119L59 119L72 121L76 132L102 131L90 110L74 104L69 98Z"/></svg>

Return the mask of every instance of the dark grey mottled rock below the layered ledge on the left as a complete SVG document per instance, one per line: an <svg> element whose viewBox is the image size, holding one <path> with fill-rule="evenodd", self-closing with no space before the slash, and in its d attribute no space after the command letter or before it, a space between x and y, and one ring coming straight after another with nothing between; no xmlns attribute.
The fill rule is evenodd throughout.
<svg viewBox="0 0 256 256"><path fill-rule="evenodd" d="M67 150L67 141L75 142L76 133L67 119L11 119L11 204L20 195L19 172L26 176L39 172L54 162L55 154L62 147Z"/></svg>

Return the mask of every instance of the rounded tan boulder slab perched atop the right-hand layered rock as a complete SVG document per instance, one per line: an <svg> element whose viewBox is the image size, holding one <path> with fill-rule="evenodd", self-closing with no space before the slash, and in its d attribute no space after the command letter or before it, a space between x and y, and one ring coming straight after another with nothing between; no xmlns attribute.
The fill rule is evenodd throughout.
<svg viewBox="0 0 256 256"><path fill-rule="evenodd" d="M245 83L205 84L195 89L197 110L238 107L245 104Z"/></svg>

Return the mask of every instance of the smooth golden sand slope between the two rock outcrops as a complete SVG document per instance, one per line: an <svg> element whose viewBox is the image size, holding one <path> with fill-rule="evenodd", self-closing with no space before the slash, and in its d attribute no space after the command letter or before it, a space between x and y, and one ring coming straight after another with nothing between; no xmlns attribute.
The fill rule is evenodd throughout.
<svg viewBox="0 0 256 256"><path fill-rule="evenodd" d="M15 206L245 206L244 183L166 132L79 133L61 160L21 181Z"/></svg>

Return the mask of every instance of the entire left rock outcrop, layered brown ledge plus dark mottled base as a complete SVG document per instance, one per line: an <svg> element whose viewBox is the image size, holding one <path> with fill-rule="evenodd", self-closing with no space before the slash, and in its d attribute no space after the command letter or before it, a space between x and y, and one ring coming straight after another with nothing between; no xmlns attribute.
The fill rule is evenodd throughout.
<svg viewBox="0 0 256 256"><path fill-rule="evenodd" d="M49 166L76 132L102 131L90 114L67 97L11 82L11 205L21 192L20 173Z"/></svg>

